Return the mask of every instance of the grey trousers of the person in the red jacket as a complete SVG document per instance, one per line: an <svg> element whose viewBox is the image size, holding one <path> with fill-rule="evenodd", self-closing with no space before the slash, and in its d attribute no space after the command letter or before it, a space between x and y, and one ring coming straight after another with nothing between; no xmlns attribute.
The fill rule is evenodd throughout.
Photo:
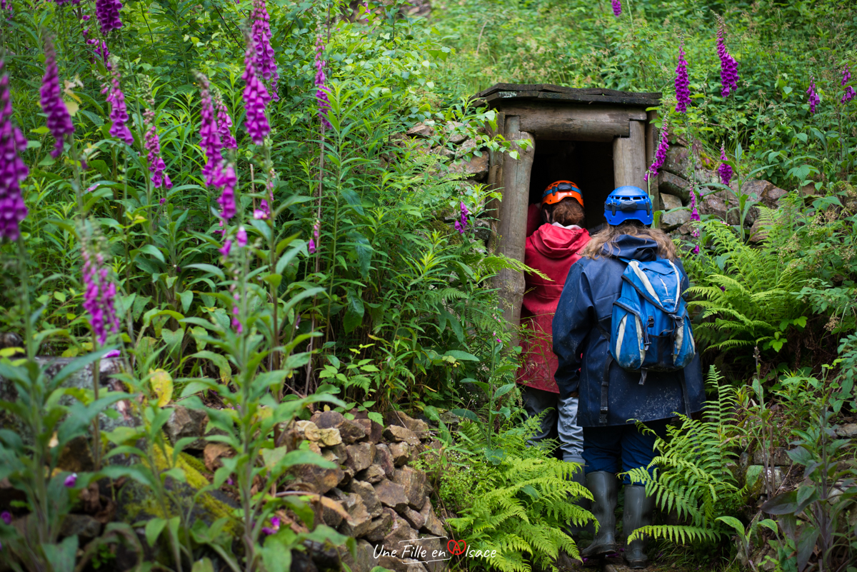
<svg viewBox="0 0 857 572"><path fill-rule="evenodd" d="M542 439L559 438L562 460L583 465L584 430L578 426L578 398L560 399L558 393L526 386L521 388L521 395L524 398L524 410L530 417L546 411L542 415L542 428L533 435L532 444Z"/></svg>

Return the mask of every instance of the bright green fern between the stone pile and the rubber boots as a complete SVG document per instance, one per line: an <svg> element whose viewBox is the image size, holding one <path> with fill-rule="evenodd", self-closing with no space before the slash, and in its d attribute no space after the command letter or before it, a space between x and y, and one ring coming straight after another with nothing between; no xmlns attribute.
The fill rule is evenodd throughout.
<svg viewBox="0 0 857 572"><path fill-rule="evenodd" d="M516 413L517 420L523 412ZM528 444L538 430L538 418L505 424L490 444L481 424L462 421L458 455L440 477L441 498L459 514L449 524L466 533L474 550L493 554L484 561L492 569L555 569L560 550L578 557L564 530L569 521L582 526L592 518L573 504L576 498L591 498L571 480L578 465Z"/></svg>

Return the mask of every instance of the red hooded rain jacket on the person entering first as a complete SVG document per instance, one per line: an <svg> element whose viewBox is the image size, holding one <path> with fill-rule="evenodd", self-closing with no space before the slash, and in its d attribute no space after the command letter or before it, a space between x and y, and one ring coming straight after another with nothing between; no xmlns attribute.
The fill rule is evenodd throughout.
<svg viewBox="0 0 857 572"><path fill-rule="evenodd" d="M556 306L566 284L568 271L580 259L580 251L589 242L586 229L563 229L542 224L527 237L524 264L550 277L548 282L535 274L526 275L521 325L527 335L521 340L523 365L518 382L537 390L559 393L554 372L559 365L551 337Z"/></svg>

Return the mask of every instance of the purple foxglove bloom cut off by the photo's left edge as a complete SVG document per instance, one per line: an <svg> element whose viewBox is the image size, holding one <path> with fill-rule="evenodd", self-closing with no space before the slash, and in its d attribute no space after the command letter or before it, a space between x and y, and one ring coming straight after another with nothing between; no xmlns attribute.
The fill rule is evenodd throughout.
<svg viewBox="0 0 857 572"><path fill-rule="evenodd" d="M6 63L0 60L0 74ZM18 225L27 217L27 206L21 196L21 181L29 170L20 152L27 149L27 138L12 122L12 100L9 97L9 75L0 77L0 240L18 240Z"/></svg>

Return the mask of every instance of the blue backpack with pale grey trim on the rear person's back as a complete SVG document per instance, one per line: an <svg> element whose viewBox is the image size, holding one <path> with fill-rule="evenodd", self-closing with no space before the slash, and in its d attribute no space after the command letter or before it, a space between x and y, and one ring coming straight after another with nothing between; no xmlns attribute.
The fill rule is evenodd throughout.
<svg viewBox="0 0 857 572"><path fill-rule="evenodd" d="M622 368L640 372L683 370L696 355L691 321L681 297L681 272L672 260L621 259L619 300L613 303L610 355Z"/></svg>

